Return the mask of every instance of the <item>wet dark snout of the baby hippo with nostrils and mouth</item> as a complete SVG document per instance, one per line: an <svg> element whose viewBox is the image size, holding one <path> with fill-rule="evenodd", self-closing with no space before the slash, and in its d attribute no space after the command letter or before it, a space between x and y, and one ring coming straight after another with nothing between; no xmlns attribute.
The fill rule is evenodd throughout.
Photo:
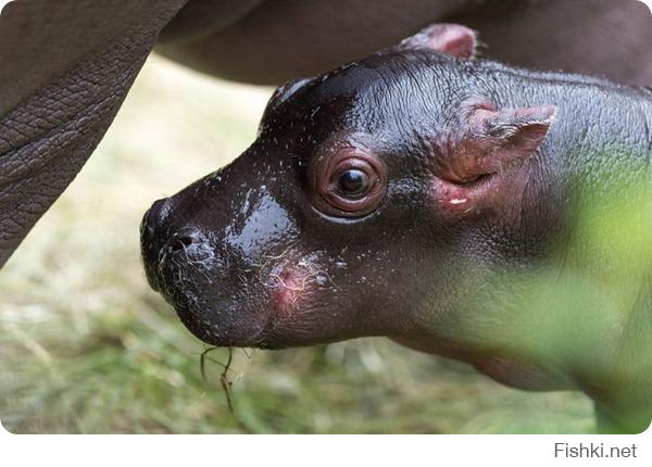
<svg viewBox="0 0 652 467"><path fill-rule="evenodd" d="M262 345L274 310L285 311L285 301L293 300L279 290L284 272L272 261L285 250L259 250L255 232L265 230L269 241L281 237L274 230L278 218L265 216L274 206L262 203L251 215L237 215L248 201L261 204L256 198L208 177L155 201L142 218L141 254L150 286L212 345Z"/></svg>

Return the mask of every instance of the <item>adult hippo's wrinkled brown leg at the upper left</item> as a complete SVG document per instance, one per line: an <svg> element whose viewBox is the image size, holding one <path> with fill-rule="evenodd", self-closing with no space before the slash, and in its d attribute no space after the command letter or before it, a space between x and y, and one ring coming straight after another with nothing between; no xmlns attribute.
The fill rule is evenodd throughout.
<svg viewBox="0 0 652 467"><path fill-rule="evenodd" d="M73 180L186 0L18 0L0 16L0 266Z"/></svg>

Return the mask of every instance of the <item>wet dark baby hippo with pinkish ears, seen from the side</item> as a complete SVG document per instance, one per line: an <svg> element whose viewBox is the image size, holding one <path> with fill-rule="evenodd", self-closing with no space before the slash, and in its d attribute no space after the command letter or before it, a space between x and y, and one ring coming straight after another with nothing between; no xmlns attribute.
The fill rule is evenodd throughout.
<svg viewBox="0 0 652 467"><path fill-rule="evenodd" d="M146 214L149 282L213 345L385 336L642 431L652 92L475 48L436 25L278 88L240 157Z"/></svg>

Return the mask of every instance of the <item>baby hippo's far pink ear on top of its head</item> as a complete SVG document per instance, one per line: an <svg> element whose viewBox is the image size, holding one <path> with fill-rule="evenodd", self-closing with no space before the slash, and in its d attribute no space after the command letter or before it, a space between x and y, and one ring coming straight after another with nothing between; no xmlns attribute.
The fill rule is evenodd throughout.
<svg viewBox="0 0 652 467"><path fill-rule="evenodd" d="M434 24L412 37L404 39L399 47L430 49L444 55L460 59L475 58L477 35L459 24Z"/></svg>

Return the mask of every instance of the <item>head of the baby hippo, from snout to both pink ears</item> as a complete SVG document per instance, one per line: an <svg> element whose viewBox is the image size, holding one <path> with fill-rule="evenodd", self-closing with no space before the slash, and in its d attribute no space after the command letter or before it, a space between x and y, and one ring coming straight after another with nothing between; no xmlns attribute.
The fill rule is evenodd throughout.
<svg viewBox="0 0 652 467"><path fill-rule="evenodd" d="M469 262L501 257L491 236L529 234L500 200L528 202L554 113L478 93L474 45L436 26L288 83L242 155L153 204L147 276L190 331L283 348L400 340L450 315Z"/></svg>

